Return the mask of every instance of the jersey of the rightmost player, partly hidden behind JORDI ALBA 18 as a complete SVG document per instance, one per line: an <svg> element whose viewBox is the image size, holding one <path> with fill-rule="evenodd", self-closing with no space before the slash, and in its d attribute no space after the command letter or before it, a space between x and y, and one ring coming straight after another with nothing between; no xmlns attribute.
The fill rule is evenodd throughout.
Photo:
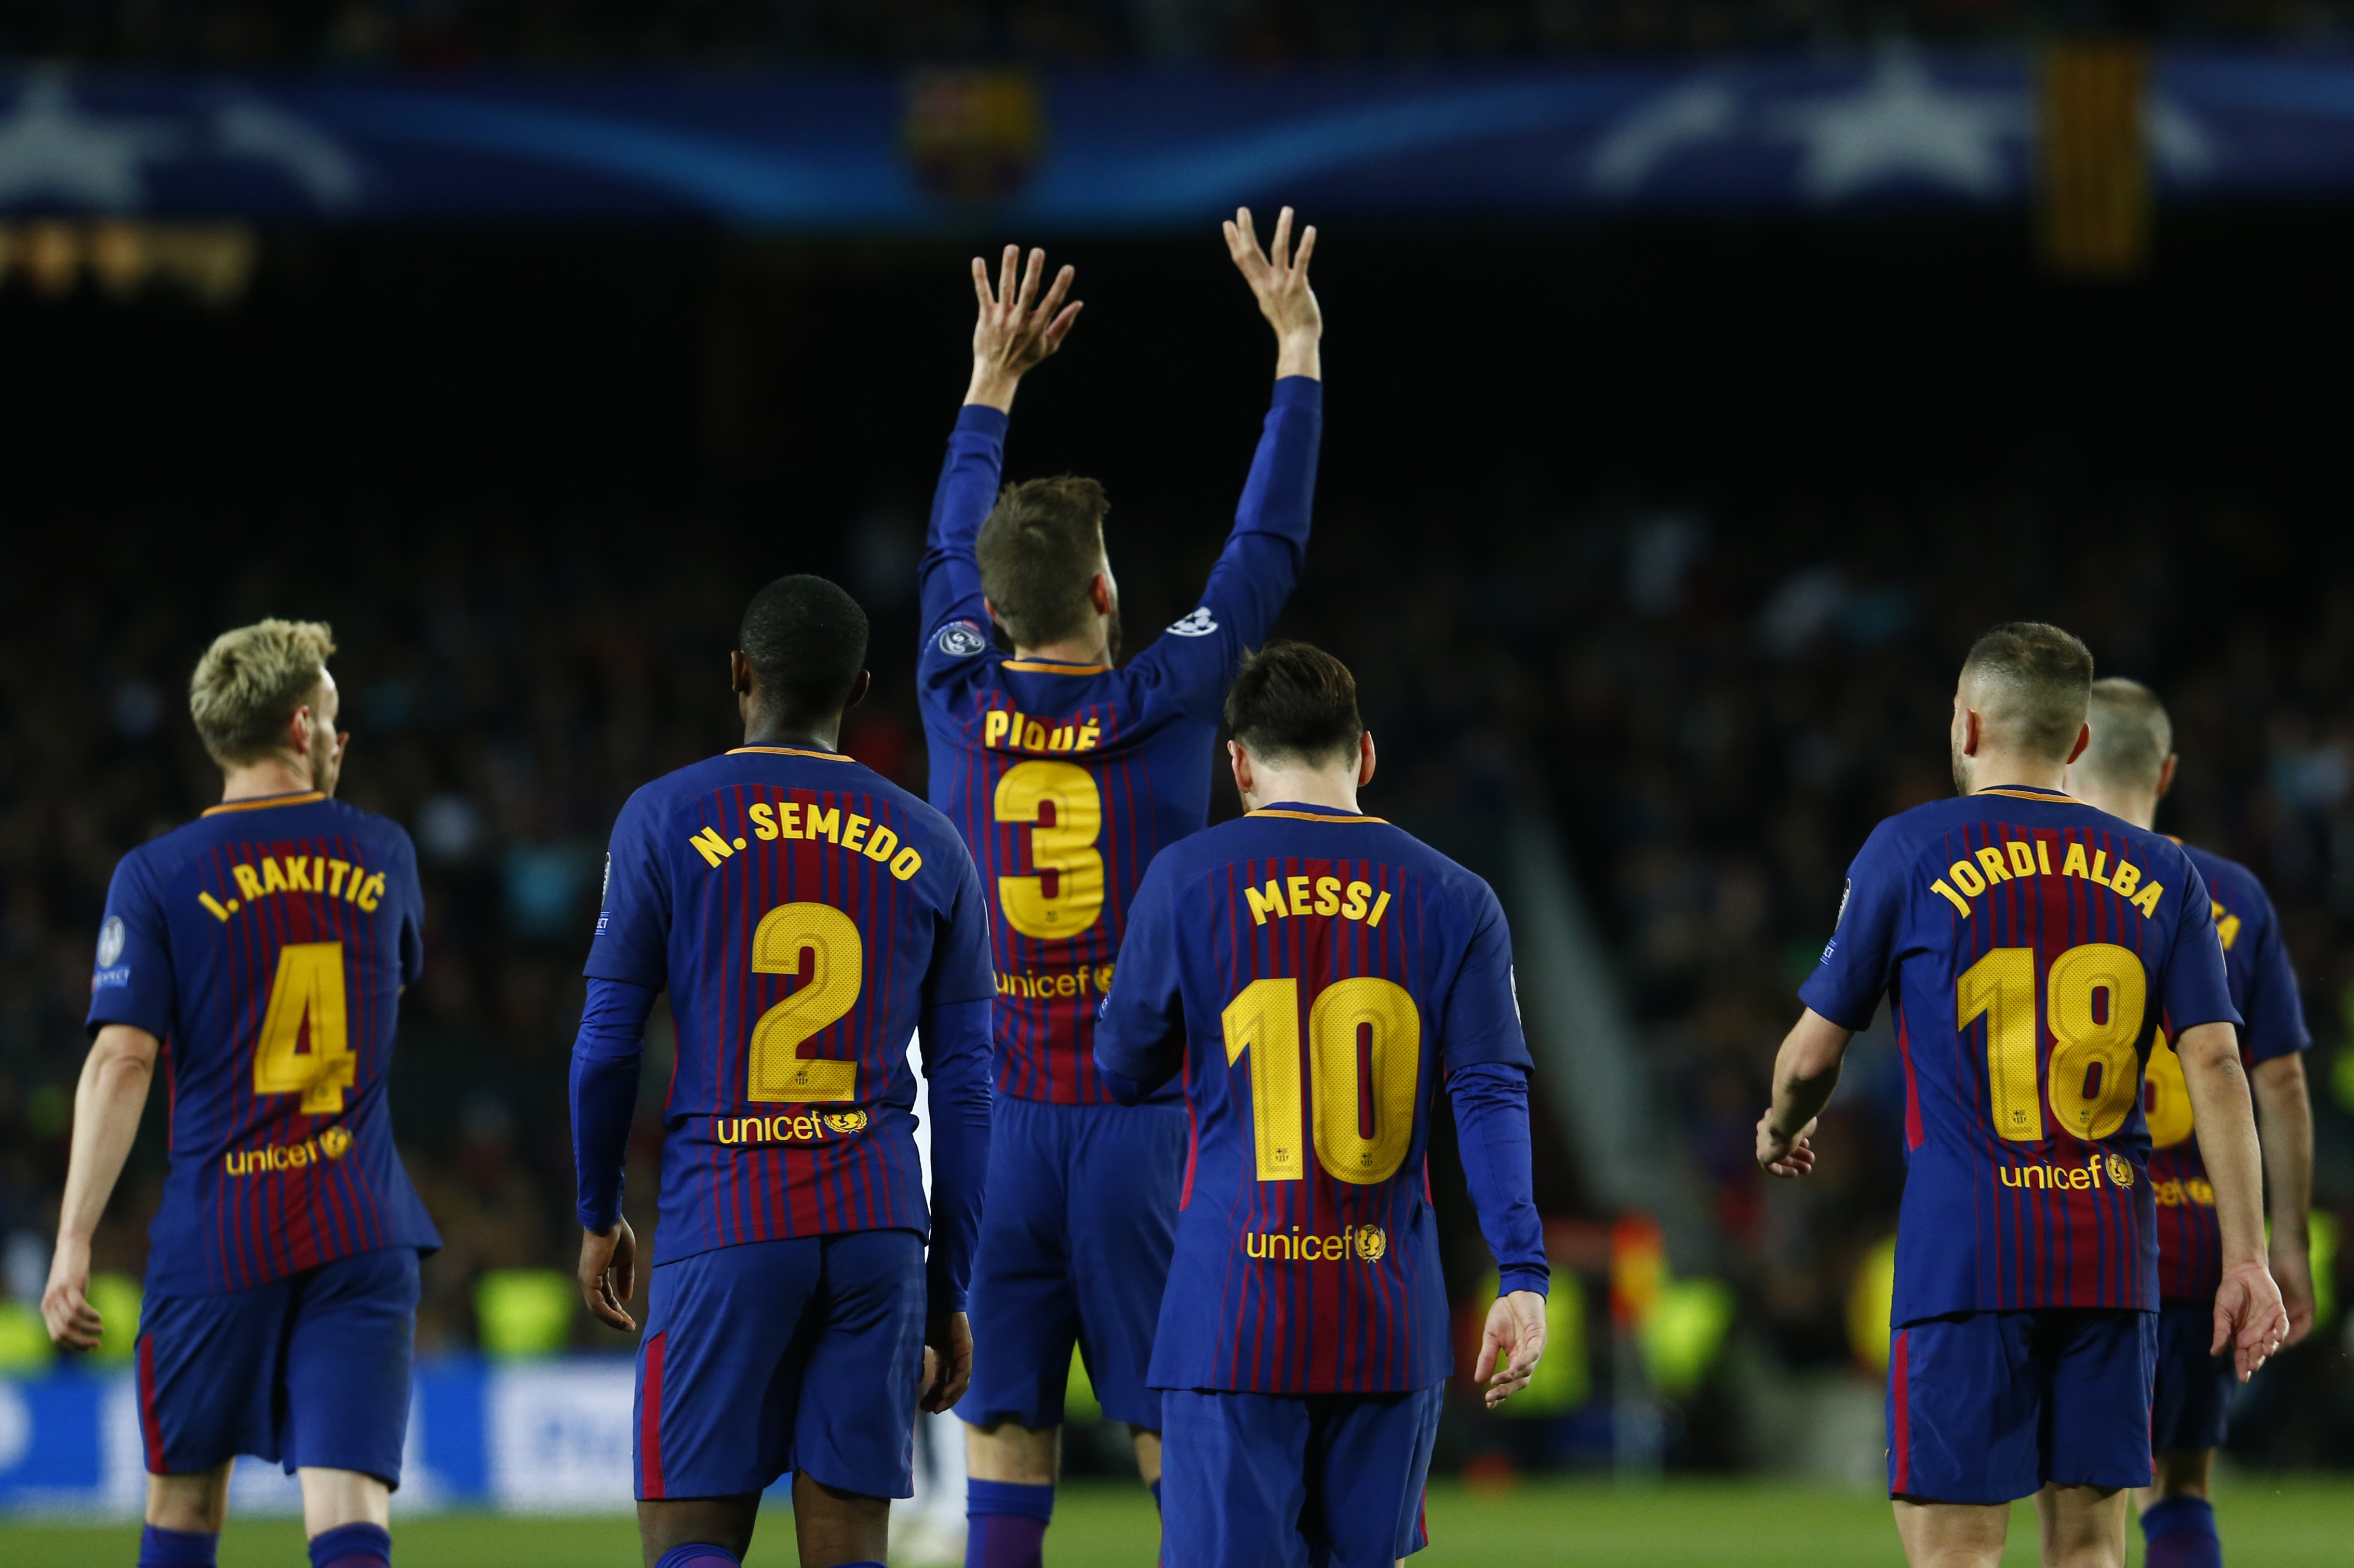
<svg viewBox="0 0 2354 1568"><path fill-rule="evenodd" d="M2272 911L2265 885L2236 859L2182 848L2208 885L2232 1005L2241 1017L2241 1062L2253 1069L2305 1050L2314 1036L2305 1026L2298 975L2288 968L2281 918ZM2159 1295L2168 1302L2213 1302L2222 1283L2215 1187L2192 1135L2182 1062L2166 1036L2159 1036L2159 1048L2149 1055L2142 1111L2149 1118L2149 1189L2159 1205Z"/></svg>

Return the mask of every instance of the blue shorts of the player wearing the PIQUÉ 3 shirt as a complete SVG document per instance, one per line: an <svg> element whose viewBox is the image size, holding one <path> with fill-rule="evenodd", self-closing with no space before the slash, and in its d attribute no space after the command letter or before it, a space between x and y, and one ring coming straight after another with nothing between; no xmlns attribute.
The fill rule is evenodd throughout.
<svg viewBox="0 0 2354 1568"><path fill-rule="evenodd" d="M960 1417L1059 1427L1076 1342L1104 1417L1161 1429L1144 1370L1177 1248L1184 1156L1177 1104L998 1097Z"/></svg>

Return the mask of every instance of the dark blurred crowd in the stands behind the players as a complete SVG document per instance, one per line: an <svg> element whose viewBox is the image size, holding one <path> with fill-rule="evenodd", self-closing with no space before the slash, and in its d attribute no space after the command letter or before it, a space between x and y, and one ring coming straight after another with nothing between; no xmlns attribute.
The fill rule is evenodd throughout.
<svg viewBox="0 0 2354 1568"><path fill-rule="evenodd" d="M1384 760L1375 810L1429 824L1441 843L1450 824L1509 810L1558 819L1702 1172L1707 1262L1740 1293L1751 1342L1784 1363L1850 1356L1846 1293L1890 1234L1902 1184L1895 1052L1857 1052L1806 1187L1768 1191L1751 1123L1850 855L1878 817L1951 789L1961 652L2020 614L2072 626L2102 671L2140 676L2170 704L2182 770L2161 829L2248 862L2274 890L2316 1036L2321 1205L2354 1210L2342 544L2300 518L2185 501L1707 516L1617 499L1563 516L1497 494L1478 506L1478 527L1429 530L1405 499L1328 490L1318 527L1356 549L1314 551L1285 629L1358 673ZM0 586L9 1283L38 1290L45 1264L113 862L217 796L186 720L186 671L221 626L325 617L355 735L344 793L410 826L426 878L426 977L403 1008L393 1109L447 1238L426 1269L421 1342L464 1349L485 1269L570 1269L565 1064L603 836L631 789L739 735L723 655L756 582L643 539L454 523L358 527L311 558L245 563L155 539L151 556L127 549L146 565L104 591L33 574ZM1215 544L1198 523L1163 525L1142 497L1123 504L1113 558L1132 643L1193 603ZM796 565L833 570L871 605L878 695L847 749L923 789L909 685L918 546L920 516L880 506L833 560ZM1217 798L1233 810L1229 784ZM631 1163L640 1234L664 1031L657 1015ZM101 1267L141 1267L160 1137L151 1114ZM1563 1137L1544 1130L1542 1205L1575 1215L1577 1194ZM1450 1257L1476 1267L1476 1231L1445 1189L1441 1201L1457 1205ZM581 1326L579 1342L593 1333Z"/></svg>

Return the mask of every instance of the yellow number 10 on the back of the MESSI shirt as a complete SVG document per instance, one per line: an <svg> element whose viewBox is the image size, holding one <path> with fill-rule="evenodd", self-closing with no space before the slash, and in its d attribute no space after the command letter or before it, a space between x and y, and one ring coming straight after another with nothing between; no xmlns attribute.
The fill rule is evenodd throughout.
<svg viewBox="0 0 2354 1568"><path fill-rule="evenodd" d="M1299 1135L1309 1118L1299 1104L1299 982L1252 979L1226 1003L1219 1024L1229 1067L1250 1052L1259 1180L1304 1180ZM1309 1008L1309 1071L1316 1078L1316 1163L1325 1175L1354 1187L1398 1175L1415 1142L1415 1088L1422 1078L1422 1012L1405 986L1361 975L1318 991Z"/></svg>

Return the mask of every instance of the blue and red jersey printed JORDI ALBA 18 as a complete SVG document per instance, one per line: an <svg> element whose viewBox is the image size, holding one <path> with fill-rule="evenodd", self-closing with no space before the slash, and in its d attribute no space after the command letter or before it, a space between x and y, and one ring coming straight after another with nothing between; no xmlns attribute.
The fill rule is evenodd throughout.
<svg viewBox="0 0 2354 1568"><path fill-rule="evenodd" d="M2239 1022L2177 843L2053 789L1916 805L1864 841L1798 996L1848 1029L1895 998L1895 1323L2156 1311L2142 1062L2161 1022Z"/></svg>

